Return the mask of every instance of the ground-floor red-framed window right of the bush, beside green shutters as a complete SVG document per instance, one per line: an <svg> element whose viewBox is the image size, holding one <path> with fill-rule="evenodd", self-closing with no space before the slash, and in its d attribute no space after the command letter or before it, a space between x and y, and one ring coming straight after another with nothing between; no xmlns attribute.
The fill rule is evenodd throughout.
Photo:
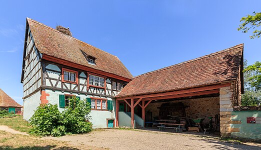
<svg viewBox="0 0 261 150"><path fill-rule="evenodd" d="M107 99L90 97L90 106L92 110L107 110Z"/></svg>

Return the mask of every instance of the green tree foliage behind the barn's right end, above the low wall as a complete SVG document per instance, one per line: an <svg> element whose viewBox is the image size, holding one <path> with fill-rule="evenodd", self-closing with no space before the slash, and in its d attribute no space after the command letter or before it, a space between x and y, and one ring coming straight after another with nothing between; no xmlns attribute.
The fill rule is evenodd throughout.
<svg viewBox="0 0 261 150"><path fill-rule="evenodd" d="M246 65L244 61L244 94L241 97L241 105L258 105L261 102L261 63L256 61L252 65Z"/></svg>

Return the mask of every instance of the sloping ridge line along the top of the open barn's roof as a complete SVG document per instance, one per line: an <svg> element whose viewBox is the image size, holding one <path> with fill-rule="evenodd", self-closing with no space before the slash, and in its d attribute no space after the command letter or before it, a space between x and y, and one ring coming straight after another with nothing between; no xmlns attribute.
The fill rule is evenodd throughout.
<svg viewBox="0 0 261 150"><path fill-rule="evenodd" d="M161 71L161 70L164 70L164 69L168 69L168 68L171 68L171 67L180 65L180 64L192 62L192 61L195 61L195 60L198 60L198 59L205 58L205 57L207 57L207 56L216 55L216 54L219 54L219 53L228 51L228 50L230 50L230 49L238 48L238 47L240 47L240 46L242 46L242 45L243 45L243 43L240 43L240 44L237 44L237 45L235 45L235 46L232 46L232 47L229 47L229 48L226 48L226 49L223 49L223 50L219 50L219 51L216 51L216 52L212 52L212 53L210 53L210 54L206 54L206 55L203 55L203 56L194 58L194 59L190 59L190 60L187 60L187 61L179 62L179 63L177 63L177 64L173 64L173 65L166 66L166 67L163 67L163 68L159 68L159 69L156 69L156 70L153 70L153 71L149 71L149 72L146 72L146 73L143 73L143 74L134 76L134 77L132 77L132 78L136 78L136 77L139 77L139 76L142 76L142 75L146 75L146 74L150 74L150 73L153 73L153 72L157 72L157 71Z"/></svg>

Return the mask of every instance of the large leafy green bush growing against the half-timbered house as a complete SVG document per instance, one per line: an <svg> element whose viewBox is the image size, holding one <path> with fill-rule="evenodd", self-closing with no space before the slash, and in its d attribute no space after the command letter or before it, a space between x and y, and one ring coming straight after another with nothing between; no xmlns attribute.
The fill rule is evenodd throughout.
<svg viewBox="0 0 261 150"><path fill-rule="evenodd" d="M87 133L92 124L87 120L90 106L86 100L69 98L69 106L59 112L57 104L40 105L29 119L31 133L40 136L62 136L71 133Z"/></svg>

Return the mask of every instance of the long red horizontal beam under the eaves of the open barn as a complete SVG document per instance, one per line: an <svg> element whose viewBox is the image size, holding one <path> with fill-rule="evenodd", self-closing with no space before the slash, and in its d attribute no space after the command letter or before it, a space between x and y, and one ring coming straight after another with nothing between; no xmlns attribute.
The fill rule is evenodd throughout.
<svg viewBox="0 0 261 150"><path fill-rule="evenodd" d="M149 97L157 97L157 96L177 95L177 94L184 94L184 93L190 93L190 92L219 89L220 87L225 87L225 86L230 86L230 85L231 85L231 82L223 83L223 84L208 85L208 86L203 86L203 87L194 87L194 88L182 89L182 90L176 90L176 91L169 91L169 92L164 92L164 93L151 93L151 94L148 93L146 95L133 96L133 98L141 98L141 97L149 98ZM130 97L129 96L118 97L116 99L121 100L121 99L127 99L127 98L130 98Z"/></svg>

